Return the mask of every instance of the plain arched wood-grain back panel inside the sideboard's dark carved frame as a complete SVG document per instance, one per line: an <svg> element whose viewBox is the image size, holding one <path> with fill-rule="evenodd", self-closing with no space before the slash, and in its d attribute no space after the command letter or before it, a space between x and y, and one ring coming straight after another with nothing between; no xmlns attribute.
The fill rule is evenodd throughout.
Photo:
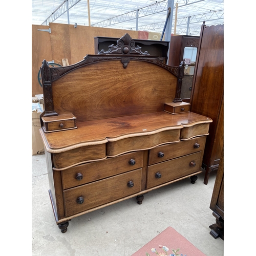
<svg viewBox="0 0 256 256"><path fill-rule="evenodd" d="M177 77L154 63L102 61L52 82L54 110L77 122L154 113L175 98Z"/></svg>

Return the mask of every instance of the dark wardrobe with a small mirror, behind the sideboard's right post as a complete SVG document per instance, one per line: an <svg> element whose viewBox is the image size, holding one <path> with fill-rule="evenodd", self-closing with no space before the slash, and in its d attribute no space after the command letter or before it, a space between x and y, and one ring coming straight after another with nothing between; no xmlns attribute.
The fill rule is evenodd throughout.
<svg viewBox="0 0 256 256"><path fill-rule="evenodd" d="M181 88L181 98L185 102L190 102L198 47L199 36L173 35L170 38L168 65L178 66L184 58L190 60L184 63Z"/></svg>

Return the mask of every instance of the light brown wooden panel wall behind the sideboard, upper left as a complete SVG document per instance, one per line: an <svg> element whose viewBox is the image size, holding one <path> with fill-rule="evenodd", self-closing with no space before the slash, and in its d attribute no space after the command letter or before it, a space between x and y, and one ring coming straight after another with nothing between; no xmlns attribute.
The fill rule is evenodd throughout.
<svg viewBox="0 0 256 256"><path fill-rule="evenodd" d="M51 33L38 31L49 29ZM42 61L54 60L62 65L62 58L68 58L69 65L79 62L87 54L94 54L94 37L118 37L125 33L138 39L138 31L77 26L50 23L50 26L32 25L32 97L42 94L37 79Z"/></svg>

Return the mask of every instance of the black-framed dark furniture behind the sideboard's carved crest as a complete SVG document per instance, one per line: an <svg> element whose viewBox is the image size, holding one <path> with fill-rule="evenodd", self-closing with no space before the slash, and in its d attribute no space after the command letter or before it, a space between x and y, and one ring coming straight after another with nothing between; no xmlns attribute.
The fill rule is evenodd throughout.
<svg viewBox="0 0 256 256"><path fill-rule="evenodd" d="M94 51L95 54L98 54L101 51L107 52L111 45L116 45L116 42L119 38L115 37L103 37L103 36L96 36L94 37ZM143 49L143 52L149 52L151 56L158 56L162 57L162 61L166 63L167 53L169 49L169 41L159 41L159 40L143 40L143 39L133 39L135 42L135 46L139 46ZM161 59L160 59L161 60ZM181 61L180 61L181 62ZM172 66L179 66L180 62L177 65Z"/></svg>

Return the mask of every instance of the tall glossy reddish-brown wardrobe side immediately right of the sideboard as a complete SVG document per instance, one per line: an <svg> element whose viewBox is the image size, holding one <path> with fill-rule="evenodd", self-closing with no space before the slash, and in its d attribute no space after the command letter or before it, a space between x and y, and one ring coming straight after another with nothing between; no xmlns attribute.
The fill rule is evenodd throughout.
<svg viewBox="0 0 256 256"><path fill-rule="evenodd" d="M193 81L191 111L209 116L212 123L206 139L203 168L204 184L217 170L224 143L224 25L202 25Z"/></svg>

